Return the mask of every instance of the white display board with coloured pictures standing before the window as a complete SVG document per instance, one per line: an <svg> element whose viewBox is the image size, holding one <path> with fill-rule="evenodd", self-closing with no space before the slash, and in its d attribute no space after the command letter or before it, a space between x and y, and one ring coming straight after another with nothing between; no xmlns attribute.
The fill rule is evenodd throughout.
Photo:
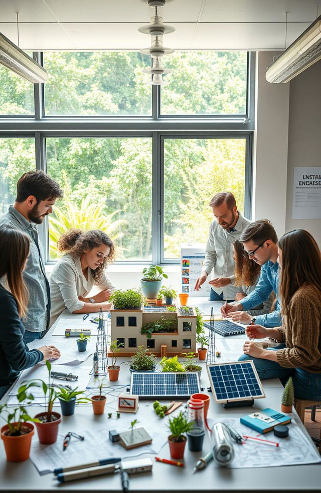
<svg viewBox="0 0 321 493"><path fill-rule="evenodd" d="M182 293L188 293L190 296L209 296L210 287L204 283L200 291L195 291L194 286L202 272L202 266L205 258L205 244L182 244L181 245L181 277Z"/></svg>

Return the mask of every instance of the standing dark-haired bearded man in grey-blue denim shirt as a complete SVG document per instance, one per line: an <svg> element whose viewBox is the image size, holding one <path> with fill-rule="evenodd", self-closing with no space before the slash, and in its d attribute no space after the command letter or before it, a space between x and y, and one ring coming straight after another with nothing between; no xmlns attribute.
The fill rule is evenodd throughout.
<svg viewBox="0 0 321 493"><path fill-rule="evenodd" d="M50 289L45 273L43 248L35 224L41 224L63 191L43 171L28 171L17 183L17 198L8 212L0 217L0 228L20 229L31 238L30 254L24 281L29 291L28 315L23 320L26 344L41 339L49 327ZM0 229L1 234L1 229ZM5 282L5 280L4 280Z"/></svg>

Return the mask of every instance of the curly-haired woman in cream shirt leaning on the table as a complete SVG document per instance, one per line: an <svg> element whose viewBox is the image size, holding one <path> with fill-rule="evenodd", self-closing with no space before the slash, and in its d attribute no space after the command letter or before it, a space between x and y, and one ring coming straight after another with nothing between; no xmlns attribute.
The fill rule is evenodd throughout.
<svg viewBox="0 0 321 493"><path fill-rule="evenodd" d="M50 276L50 325L68 308L71 313L106 311L114 285L108 279L106 266L114 259L114 244L99 229L70 229L58 240L60 252L67 252L55 265ZM87 298L93 286L100 292Z"/></svg>

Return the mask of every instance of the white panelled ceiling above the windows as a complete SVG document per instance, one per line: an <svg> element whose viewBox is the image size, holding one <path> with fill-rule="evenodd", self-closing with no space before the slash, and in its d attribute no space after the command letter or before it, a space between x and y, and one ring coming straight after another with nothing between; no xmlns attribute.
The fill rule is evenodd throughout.
<svg viewBox="0 0 321 493"><path fill-rule="evenodd" d="M0 0L0 32L24 50L139 50L153 9L147 0ZM286 13L287 24L286 24ZM193 50L275 50L289 46L321 14L321 0L167 0L176 28L164 45Z"/></svg>

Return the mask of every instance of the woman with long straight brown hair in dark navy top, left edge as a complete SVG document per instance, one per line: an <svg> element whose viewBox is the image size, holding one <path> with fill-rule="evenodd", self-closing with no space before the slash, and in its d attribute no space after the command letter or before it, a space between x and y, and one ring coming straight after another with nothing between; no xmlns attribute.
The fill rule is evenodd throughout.
<svg viewBox="0 0 321 493"><path fill-rule="evenodd" d="M16 229L0 231L0 398L19 372L39 361L59 358L54 346L28 350L23 341L25 327L20 320L26 315L28 291L22 273L28 262L30 238ZM6 287L5 287L6 286Z"/></svg>

